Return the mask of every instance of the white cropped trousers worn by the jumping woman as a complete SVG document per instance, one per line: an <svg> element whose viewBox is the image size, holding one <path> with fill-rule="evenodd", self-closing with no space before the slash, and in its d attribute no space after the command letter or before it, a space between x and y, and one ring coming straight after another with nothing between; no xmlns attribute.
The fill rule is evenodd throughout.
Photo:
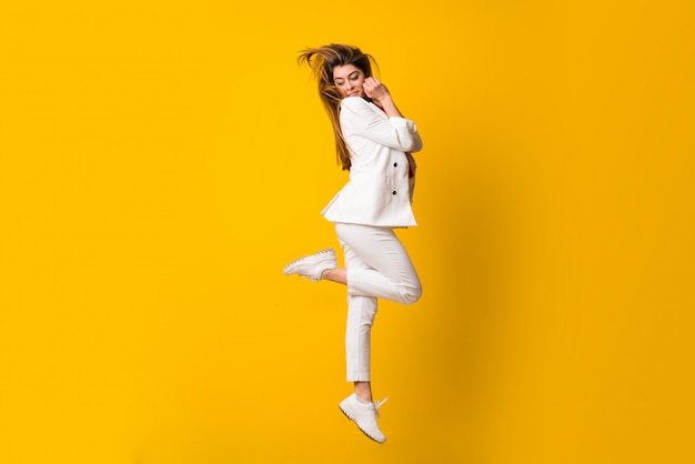
<svg viewBox="0 0 695 464"><path fill-rule="evenodd" d="M369 382L376 299L411 304L420 299L422 285L393 229L336 223L335 233L348 270L348 381Z"/></svg>

